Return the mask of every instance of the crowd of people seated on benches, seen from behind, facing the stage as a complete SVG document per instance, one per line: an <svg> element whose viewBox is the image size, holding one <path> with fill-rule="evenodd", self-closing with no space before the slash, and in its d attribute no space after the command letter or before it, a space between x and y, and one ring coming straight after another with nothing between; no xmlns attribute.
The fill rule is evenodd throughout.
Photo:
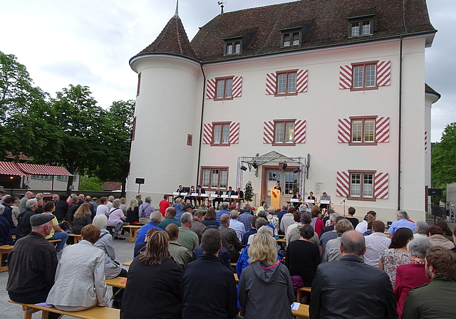
<svg viewBox="0 0 456 319"><path fill-rule="evenodd" d="M71 197L71 203L77 204L78 199ZM105 200L100 202L99 206L107 206ZM327 222L323 222L316 205L311 212L307 211L306 205L300 206L300 211L294 206L282 208L281 221L286 223L281 226L277 211L267 203L257 216L249 206L240 212L237 209L229 211L226 202L222 203L222 211L218 211L222 214L217 214L213 208L207 209L205 214L201 211L192 214L193 209L187 207L182 211L180 221L174 205L165 209L165 219L158 210L150 212L147 224L138 230L135 256L126 271L115 261L113 235L106 229L108 215L110 211L113 214L119 210L128 220L128 212L132 215L131 212L136 211L144 221L145 214L140 215L137 199L125 206L125 213L119 208L120 200L112 202L108 214L101 209L93 221L90 219L90 223L81 228L83 241L62 250L58 267L54 259L52 262L49 259L48 264L55 267L56 275L47 293L40 292L39 296L46 296L41 301L46 300L67 311L105 306L109 296L104 281L120 276L128 277L125 291L116 293L117 289L113 289L116 293L113 307L121 309L120 318L235 318L238 308L244 310L244 318L293 318L290 310L291 303L296 300L293 290L300 286L311 288L310 298L306 298L306 301L310 300L311 318L331 318L337 307L341 310L340 318L350 318L347 313L351 313L351 318L408 319L420 318L421 313L435 314L423 318L452 318L447 303L456 297L456 248L453 244L456 229L448 232L445 221L439 221L440 226L425 229L427 225L423 222L415 224L405 211L398 211L398 222L392 224L393 234L386 236L385 224L373 220L377 216L371 211L364 216L363 223L359 223L363 226L355 230L353 224L358 226L358 223L351 220L356 218L353 207L349 209L350 219L331 211ZM40 215L34 212L37 204L36 200L26 202L31 230L18 243L26 243L28 236L46 238L51 230L56 231L55 221L49 219L54 216L36 220L35 216ZM147 208L150 200L143 204ZM89 205L85 200L81 202L72 216L73 221L88 220ZM51 206L43 207L45 214L53 213ZM6 219L0 214L0 221L2 218ZM194 221L199 222L198 229L192 228ZM244 221L248 223L247 228ZM124 219L119 220L119 224L124 222ZM366 234L369 225L371 233ZM284 256L279 253L276 241L279 230L286 239ZM119 235L120 232L121 229ZM37 244L44 245L41 241ZM11 253L11 263L21 265L11 271L7 286L11 299L18 301L26 300L17 293L21 291L20 286L26 284L15 281L24 271L24 265L32 262L19 261L20 253L19 248ZM55 249L53 253L56 254ZM48 249L46 258L54 258ZM365 280L363 283L351 281L353 286L345 288L338 285L337 269L341 269L345 280L350 280L351 276ZM233 270L239 278L238 289ZM371 296L365 300L356 298L369 283L375 287ZM88 286L92 286L93 291L83 298L70 298L83 294ZM349 305L331 303L331 296L343 296L353 290L356 293ZM435 293L437 301L423 301L425 291ZM35 296L33 291L29 293ZM271 293L277 298L267 298ZM217 302L200 305L197 301L202 296L211 296ZM423 309L423 305L427 308ZM369 313L360 314L362 309L368 308L371 309Z"/></svg>

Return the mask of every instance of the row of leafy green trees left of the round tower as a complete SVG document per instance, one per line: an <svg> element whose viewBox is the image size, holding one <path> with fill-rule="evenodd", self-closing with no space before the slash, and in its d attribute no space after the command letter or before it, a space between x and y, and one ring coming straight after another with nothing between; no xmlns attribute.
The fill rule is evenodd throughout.
<svg viewBox="0 0 456 319"><path fill-rule="evenodd" d="M103 110L91 94L87 86L69 85L50 100L15 56L0 51L0 157L22 152L39 164L123 182L125 190L135 101ZM68 194L72 183L69 177Z"/></svg>

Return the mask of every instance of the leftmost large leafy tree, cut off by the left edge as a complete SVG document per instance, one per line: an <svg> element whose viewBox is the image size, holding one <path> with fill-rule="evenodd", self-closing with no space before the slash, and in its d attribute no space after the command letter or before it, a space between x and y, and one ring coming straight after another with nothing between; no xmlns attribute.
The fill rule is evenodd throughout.
<svg viewBox="0 0 456 319"><path fill-rule="evenodd" d="M57 142L50 116L48 93L33 86L16 56L0 51L0 156L6 151L33 156L48 142Z"/></svg>

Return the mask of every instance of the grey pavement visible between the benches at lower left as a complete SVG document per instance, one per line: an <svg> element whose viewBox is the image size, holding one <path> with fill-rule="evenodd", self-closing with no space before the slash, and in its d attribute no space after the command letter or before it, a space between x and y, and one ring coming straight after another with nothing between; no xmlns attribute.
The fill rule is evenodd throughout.
<svg viewBox="0 0 456 319"><path fill-rule="evenodd" d="M133 247L135 243L128 242L128 234L125 234L127 239L125 241L114 241L114 248L115 248L115 260L122 265L127 261L133 260ZM123 266L126 270L128 267ZM8 281L8 271L4 271L0 273L0 318L1 319L21 319L24 318L24 311L22 311L22 307L20 305L16 305L15 303L9 303L9 296L8 292L6 291L6 283ZM108 291L112 296L113 288L108 286ZM38 313L33 313L33 319L41 318L41 311ZM68 315L64 315L62 318L74 318L69 317Z"/></svg>

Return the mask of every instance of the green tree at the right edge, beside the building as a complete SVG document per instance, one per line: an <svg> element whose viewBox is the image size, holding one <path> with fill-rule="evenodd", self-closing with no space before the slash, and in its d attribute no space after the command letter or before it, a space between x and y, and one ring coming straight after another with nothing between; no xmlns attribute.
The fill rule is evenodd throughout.
<svg viewBox="0 0 456 319"><path fill-rule="evenodd" d="M456 122L445 127L440 142L431 153L432 184L446 189L446 185L456 182Z"/></svg>

